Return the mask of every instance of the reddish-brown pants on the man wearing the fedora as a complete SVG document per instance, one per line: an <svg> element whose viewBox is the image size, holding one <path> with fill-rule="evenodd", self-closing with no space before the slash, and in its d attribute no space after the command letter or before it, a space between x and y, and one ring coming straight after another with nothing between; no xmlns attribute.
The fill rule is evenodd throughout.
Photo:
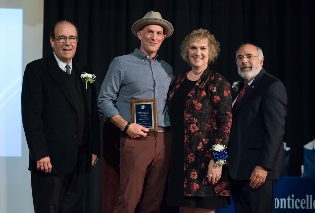
<svg viewBox="0 0 315 213"><path fill-rule="evenodd" d="M120 139L120 190L114 213L158 212L165 188L171 153L171 132Z"/></svg>

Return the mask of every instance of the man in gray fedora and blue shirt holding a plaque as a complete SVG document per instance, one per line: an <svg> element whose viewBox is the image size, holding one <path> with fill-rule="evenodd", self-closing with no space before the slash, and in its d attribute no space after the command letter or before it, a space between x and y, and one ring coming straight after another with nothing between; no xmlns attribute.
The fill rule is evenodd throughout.
<svg viewBox="0 0 315 213"><path fill-rule="evenodd" d="M120 190L115 213L158 212L169 169L171 132L166 101L174 76L157 50L173 34L173 26L158 12L136 21L132 33L140 49L115 57L103 81L98 109L122 130L120 139ZM157 99L157 132L130 123L131 99Z"/></svg>

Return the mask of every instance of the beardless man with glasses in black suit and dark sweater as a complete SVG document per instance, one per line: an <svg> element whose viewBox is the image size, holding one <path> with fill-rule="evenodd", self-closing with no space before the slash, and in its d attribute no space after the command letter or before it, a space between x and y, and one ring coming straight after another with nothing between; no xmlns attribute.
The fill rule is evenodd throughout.
<svg viewBox="0 0 315 213"><path fill-rule="evenodd" d="M95 86L86 89L80 74L90 70L72 60L77 40L75 25L56 23L54 52L24 72L22 121L35 213L83 212L85 171L100 156Z"/></svg>

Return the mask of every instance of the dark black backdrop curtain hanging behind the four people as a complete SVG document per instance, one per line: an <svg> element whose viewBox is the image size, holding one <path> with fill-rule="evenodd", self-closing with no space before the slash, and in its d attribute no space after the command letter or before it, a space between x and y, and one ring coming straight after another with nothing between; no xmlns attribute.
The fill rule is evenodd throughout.
<svg viewBox="0 0 315 213"><path fill-rule="evenodd" d="M63 19L73 22L79 29L75 57L94 70L99 90L111 60L140 47L131 26L148 11L160 12L163 19L174 26L174 34L163 41L158 54L173 67L175 74L188 68L180 58L179 46L183 38L197 28L208 29L220 42L221 52L213 66L230 84L241 80L234 61L237 47L243 42L261 47L264 68L287 89L284 142L291 147L289 174L299 176L303 164L302 146L315 137L315 74L312 70L315 1L45 0L43 56L52 52L49 43L52 25ZM90 212L99 212L100 167L92 172L88 182L90 204L96 204L90 207Z"/></svg>

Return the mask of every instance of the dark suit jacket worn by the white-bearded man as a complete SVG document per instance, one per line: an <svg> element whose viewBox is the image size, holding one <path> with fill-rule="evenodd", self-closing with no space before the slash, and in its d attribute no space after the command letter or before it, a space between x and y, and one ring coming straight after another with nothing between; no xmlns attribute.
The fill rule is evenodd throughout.
<svg viewBox="0 0 315 213"><path fill-rule="evenodd" d="M282 82L262 68L233 112L229 140L231 177L249 180L258 165L268 170L266 179L278 179L284 173L287 115L287 93Z"/></svg>

